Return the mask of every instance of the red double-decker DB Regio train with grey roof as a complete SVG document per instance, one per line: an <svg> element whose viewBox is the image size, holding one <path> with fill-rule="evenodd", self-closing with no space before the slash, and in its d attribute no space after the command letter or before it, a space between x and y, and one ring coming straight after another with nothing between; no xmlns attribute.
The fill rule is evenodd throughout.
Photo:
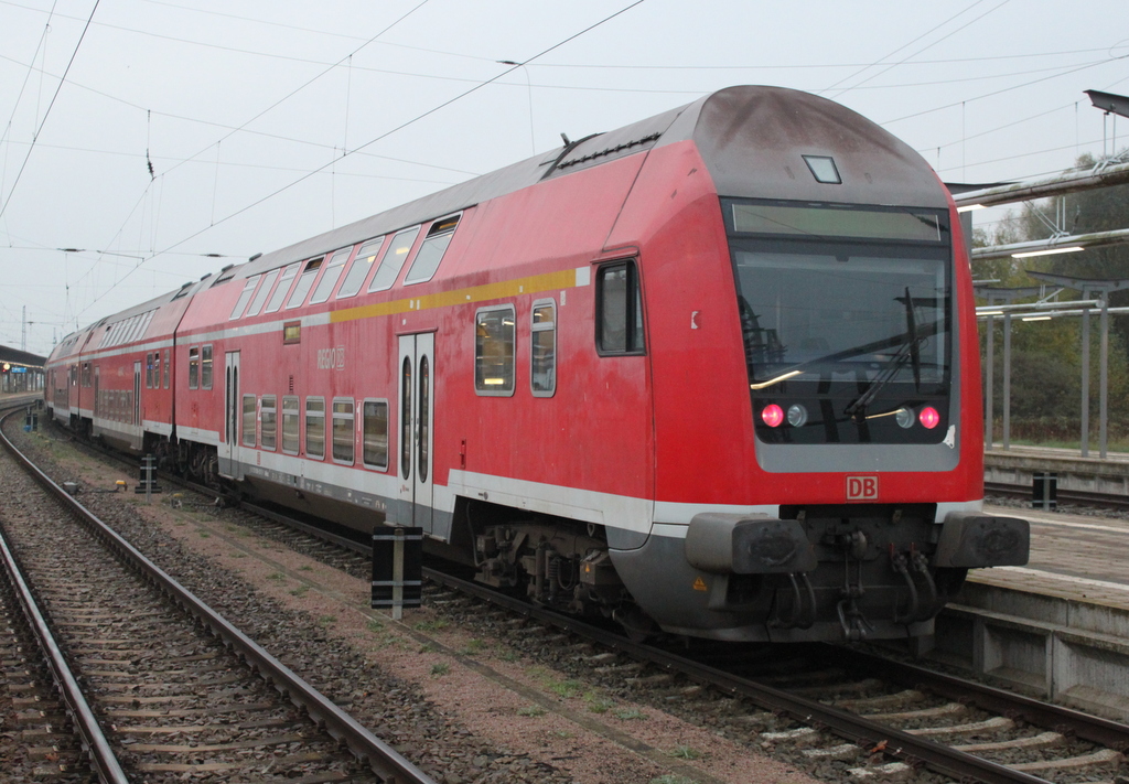
<svg viewBox="0 0 1129 784"><path fill-rule="evenodd" d="M56 419L639 634L927 635L981 513L947 190L734 87L338 228L58 346Z"/></svg>

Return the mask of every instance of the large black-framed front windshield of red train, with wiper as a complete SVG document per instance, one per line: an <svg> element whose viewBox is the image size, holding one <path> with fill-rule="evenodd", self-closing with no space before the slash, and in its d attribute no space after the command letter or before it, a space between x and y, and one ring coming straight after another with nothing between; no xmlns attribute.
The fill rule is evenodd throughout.
<svg viewBox="0 0 1129 784"><path fill-rule="evenodd" d="M947 415L953 298L943 211L726 207L754 409L798 401L800 425L814 426L805 437L800 425L765 429L758 417L759 434L902 441L911 434L886 428L893 418L875 419L926 406Z"/></svg>

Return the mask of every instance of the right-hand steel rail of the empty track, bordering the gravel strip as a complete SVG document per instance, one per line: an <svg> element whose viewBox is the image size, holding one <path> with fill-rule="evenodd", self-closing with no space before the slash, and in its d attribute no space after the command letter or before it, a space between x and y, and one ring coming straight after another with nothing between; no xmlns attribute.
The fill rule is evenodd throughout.
<svg viewBox="0 0 1129 784"><path fill-rule="evenodd" d="M306 711L317 724L323 725L333 738L344 742L358 758L366 760L373 773L382 781L390 784L436 784L435 779L330 702L282 662L228 622L226 618L204 604L191 591L125 541L116 531L102 522L93 512L32 463L2 432L0 432L0 441L23 463L33 478L82 519L84 523L103 543L117 552L126 563L138 568L185 611L208 626L250 667L271 680L277 688L290 697L295 705Z"/></svg>

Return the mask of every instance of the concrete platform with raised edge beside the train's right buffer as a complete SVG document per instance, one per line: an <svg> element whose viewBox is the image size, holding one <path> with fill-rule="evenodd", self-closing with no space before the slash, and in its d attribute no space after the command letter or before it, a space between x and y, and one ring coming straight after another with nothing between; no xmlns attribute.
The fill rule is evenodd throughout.
<svg viewBox="0 0 1129 784"><path fill-rule="evenodd" d="M986 511L1031 521L1031 560L973 570L929 655L1129 722L1129 521Z"/></svg>

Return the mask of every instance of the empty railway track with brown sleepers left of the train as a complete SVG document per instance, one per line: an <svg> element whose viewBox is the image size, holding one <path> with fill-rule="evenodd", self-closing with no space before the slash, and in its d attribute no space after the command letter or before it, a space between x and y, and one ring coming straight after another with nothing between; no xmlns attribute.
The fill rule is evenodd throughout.
<svg viewBox="0 0 1129 784"><path fill-rule="evenodd" d="M43 669L21 646L24 662L6 659L27 672L23 682L9 681L26 687L12 707L23 708L20 718L42 714L43 723L67 714L82 728L81 740L52 737L50 746L32 747L33 775L81 770L79 750L89 749L108 782L432 782L58 486L45 485L54 497L44 498L17 476L12 458L0 461L7 463L0 465L3 529L12 542L3 549L15 551L6 559L9 583L33 586L23 603L40 627L38 645L65 652L75 670L68 673L61 656L52 663L65 707L53 704L42 694ZM89 707L76 697L79 683ZM108 741L98 722L86 721L95 715L110 729ZM44 730L29 732L25 741L34 742ZM85 769L77 781L89 778Z"/></svg>

